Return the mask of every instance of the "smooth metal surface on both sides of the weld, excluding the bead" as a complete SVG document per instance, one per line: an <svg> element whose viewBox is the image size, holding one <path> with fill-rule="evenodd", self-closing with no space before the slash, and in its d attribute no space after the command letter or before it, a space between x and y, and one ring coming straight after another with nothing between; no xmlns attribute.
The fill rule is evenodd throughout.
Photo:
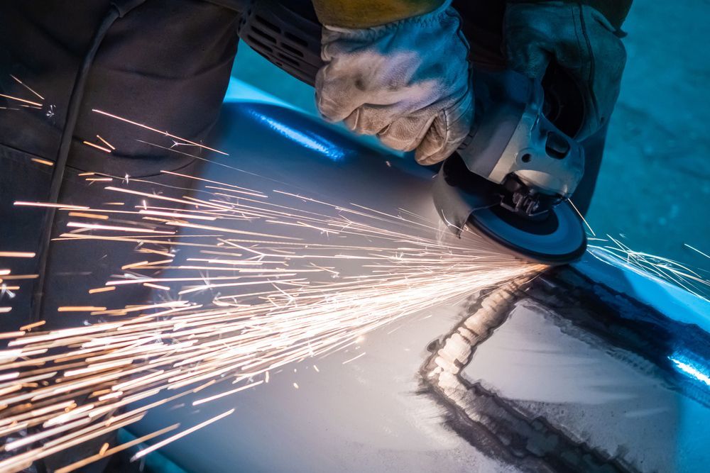
<svg viewBox="0 0 710 473"><path fill-rule="evenodd" d="M297 111L228 103L220 128L217 148L231 156L217 159L246 173L210 165L206 179L386 212L401 207L437 220L432 172ZM596 455L601 471L701 471L701 461L710 460L702 448L710 442L704 428L710 386L679 372L669 357L692 353L694 362L707 361L710 338L688 323L704 325L708 306L643 277L645 289L635 294L628 269L594 258L577 268L536 282L510 320L476 347L463 373L464 382L487 390L496 409L524 412L530 418L524 422L539 416L559 435L562 446L550 447L550 461L542 458L547 447L536 450L534 442L528 450L501 450L506 440L486 433L502 431L498 411L481 430L422 382L427 346L466 316L475 294L369 334L359 348L367 355L354 362L342 365L357 355L354 350L317 360L320 372L308 360L273 374L269 384L200 409L162 408L131 430L141 435L168 421L194 425L236 408L233 416L161 450L194 472L520 471L532 468L527 457L537 461L535 468L555 471L562 468L555 455L564 457L564 445L579 443L584 448L575 447L574 455ZM684 311L664 313L675 306ZM603 312L603 322L594 311ZM689 330L697 337L684 352ZM625 333L633 343L623 343ZM649 333L655 334L649 344L639 341ZM505 416L498 421L502 427ZM525 440L515 430L511 435Z"/></svg>

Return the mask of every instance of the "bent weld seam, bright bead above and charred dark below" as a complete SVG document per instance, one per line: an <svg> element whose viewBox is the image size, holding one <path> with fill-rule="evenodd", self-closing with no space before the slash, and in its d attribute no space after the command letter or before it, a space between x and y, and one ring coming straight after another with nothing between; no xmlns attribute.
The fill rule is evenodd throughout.
<svg viewBox="0 0 710 473"><path fill-rule="evenodd" d="M477 307L432 350L420 373L427 388L454 413L450 421L471 445L523 471L636 471L618 454L596 450L545 418L515 406L481 383L461 376L481 343L493 335L528 289L531 277L521 277L479 299ZM468 433L475 433L473 436ZM461 434L460 434L461 435Z"/></svg>

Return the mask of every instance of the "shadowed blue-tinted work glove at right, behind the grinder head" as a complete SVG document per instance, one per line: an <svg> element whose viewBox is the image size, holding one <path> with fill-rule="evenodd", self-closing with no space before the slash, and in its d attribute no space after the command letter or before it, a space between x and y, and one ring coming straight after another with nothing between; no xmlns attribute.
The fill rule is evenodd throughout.
<svg viewBox="0 0 710 473"><path fill-rule="evenodd" d="M584 139L606 124L621 87L626 50L599 11L561 1L509 3L503 31L511 69L542 78L554 59L572 74L586 108L574 138Z"/></svg>

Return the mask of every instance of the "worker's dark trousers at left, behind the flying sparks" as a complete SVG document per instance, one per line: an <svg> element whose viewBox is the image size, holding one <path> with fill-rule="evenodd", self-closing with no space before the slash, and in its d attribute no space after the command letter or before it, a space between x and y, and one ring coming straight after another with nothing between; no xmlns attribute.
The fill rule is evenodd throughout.
<svg viewBox="0 0 710 473"><path fill-rule="evenodd" d="M92 110L207 144L229 83L238 18L233 9L197 0L0 3L0 94L22 99L0 97L0 251L37 255L0 257L0 269L11 270L0 276L3 283L19 286L11 291L13 298L3 291L0 306L11 306L11 311L1 315L0 330L39 320L46 321L41 330L82 325L87 318L98 319L59 313L58 307L122 308L148 299L149 288L138 284L88 294L120 273L122 265L136 261L136 243L57 240L71 230L67 211L48 218L52 214L46 209L13 203L106 208L107 202L122 202L109 207L116 210L141 204L139 196L87 181L80 176L86 172L115 177L110 185L116 187L126 185L121 178L129 176L134 190L187 194L190 179L160 171L198 174L199 161L143 143L165 145L160 133ZM97 135L116 150L107 153L83 143L102 144ZM40 272L43 277L36 277ZM72 447L35 469L53 471L94 455L104 441L110 440ZM97 462L82 471L102 467Z"/></svg>

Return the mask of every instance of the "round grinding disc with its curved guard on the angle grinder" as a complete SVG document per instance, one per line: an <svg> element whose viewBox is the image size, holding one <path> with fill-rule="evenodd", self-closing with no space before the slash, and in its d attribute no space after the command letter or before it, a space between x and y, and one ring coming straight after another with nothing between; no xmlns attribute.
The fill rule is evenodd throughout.
<svg viewBox="0 0 710 473"><path fill-rule="evenodd" d="M538 218L501 206L501 186L469 172L458 155L435 177L434 204L443 221L460 235L464 226L507 252L547 265L577 260L586 250L581 219L568 201Z"/></svg>

